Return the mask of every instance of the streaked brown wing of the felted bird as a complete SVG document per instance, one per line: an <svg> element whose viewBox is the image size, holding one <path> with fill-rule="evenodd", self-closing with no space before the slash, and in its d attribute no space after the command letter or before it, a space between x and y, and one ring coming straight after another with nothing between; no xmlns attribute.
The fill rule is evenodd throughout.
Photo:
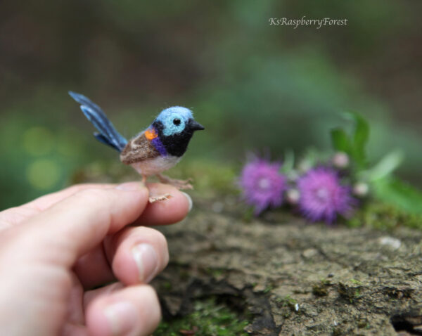
<svg viewBox="0 0 422 336"><path fill-rule="evenodd" d="M131 139L120 153L120 160L124 164L132 164L160 156L151 141L145 137L145 132Z"/></svg>

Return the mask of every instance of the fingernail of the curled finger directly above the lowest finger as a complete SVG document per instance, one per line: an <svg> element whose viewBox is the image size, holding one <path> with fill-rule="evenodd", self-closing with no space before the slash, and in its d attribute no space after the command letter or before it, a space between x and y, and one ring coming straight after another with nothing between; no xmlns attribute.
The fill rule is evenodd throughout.
<svg viewBox="0 0 422 336"><path fill-rule="evenodd" d="M139 281L148 283L158 268L157 253L149 244L139 244L132 248L132 255L138 267Z"/></svg>

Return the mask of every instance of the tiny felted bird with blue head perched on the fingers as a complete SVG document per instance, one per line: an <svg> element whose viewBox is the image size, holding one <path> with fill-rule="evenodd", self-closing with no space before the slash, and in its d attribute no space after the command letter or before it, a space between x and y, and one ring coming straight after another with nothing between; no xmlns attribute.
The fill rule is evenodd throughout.
<svg viewBox="0 0 422 336"><path fill-rule="evenodd" d="M193 119L192 111L181 106L162 110L144 131L127 141L110 122L101 108L82 94L69 91L70 96L81 104L85 117L94 124L99 133L94 136L120 153L120 160L141 174L145 183L148 176L156 175L162 183L178 189L192 189L190 179L170 179L161 173L172 168L188 148L194 131L204 127ZM165 200L170 195L150 197L150 202Z"/></svg>

